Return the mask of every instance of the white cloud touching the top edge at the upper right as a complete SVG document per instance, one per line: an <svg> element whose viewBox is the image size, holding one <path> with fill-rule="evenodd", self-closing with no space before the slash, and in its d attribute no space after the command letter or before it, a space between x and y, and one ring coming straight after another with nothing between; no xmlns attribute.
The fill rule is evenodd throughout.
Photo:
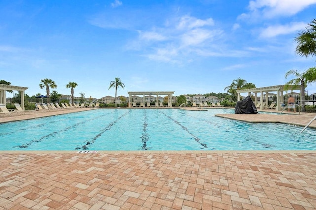
<svg viewBox="0 0 316 210"><path fill-rule="evenodd" d="M316 0L252 0L248 6L250 13L241 14L239 18L292 16L313 4L316 4Z"/></svg>

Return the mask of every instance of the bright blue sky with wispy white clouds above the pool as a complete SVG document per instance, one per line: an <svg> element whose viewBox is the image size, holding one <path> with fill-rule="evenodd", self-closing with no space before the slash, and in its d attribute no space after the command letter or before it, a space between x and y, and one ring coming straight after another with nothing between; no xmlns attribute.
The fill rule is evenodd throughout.
<svg viewBox="0 0 316 210"><path fill-rule="evenodd" d="M114 96L115 77L125 96L225 92L239 77L282 85L316 66L294 41L315 14L316 0L1 0L0 79L29 96L46 94L44 78L60 94L77 82L75 96L95 98Z"/></svg>

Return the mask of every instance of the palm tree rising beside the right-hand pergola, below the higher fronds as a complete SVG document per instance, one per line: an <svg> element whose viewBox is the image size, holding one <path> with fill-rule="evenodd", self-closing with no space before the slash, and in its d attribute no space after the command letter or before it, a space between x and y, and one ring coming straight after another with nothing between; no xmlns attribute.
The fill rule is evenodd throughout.
<svg viewBox="0 0 316 210"><path fill-rule="evenodd" d="M289 70L285 73L285 79L287 79L288 76L294 75L296 78L291 79L285 84L285 89L288 88L289 85L293 86L293 89L297 86L300 86L301 91L301 101L305 98L305 87L312 82L316 81L316 68L309 68L303 73L298 72L297 70Z"/></svg>

